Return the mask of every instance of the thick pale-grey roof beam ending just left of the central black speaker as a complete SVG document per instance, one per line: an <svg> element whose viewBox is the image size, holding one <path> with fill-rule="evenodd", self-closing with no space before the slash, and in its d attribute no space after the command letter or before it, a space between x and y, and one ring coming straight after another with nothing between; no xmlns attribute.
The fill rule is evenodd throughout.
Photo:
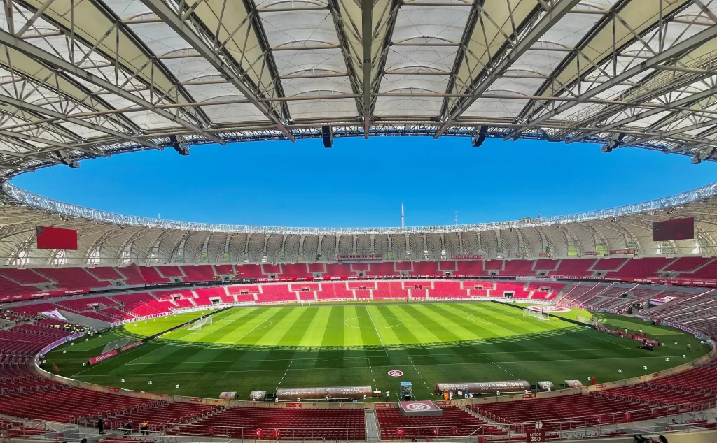
<svg viewBox="0 0 717 443"><path fill-rule="evenodd" d="M179 16L179 14L182 14L183 11L179 11L179 14L177 14L177 12L173 11L163 0L142 0L142 2L154 14L168 24L171 29L179 34L179 36L186 40L186 42L188 42L191 47L196 50L196 52L199 52L199 54L201 54L201 56L204 57L209 64L212 64L215 69L227 76L229 81L232 82L232 85L239 89L239 92L244 94L244 97L247 97L247 99L249 99L249 101L254 104L263 115L271 120L275 127L280 130L286 138L292 142L295 141L294 135L286 129L285 122L282 122L282 118L272 112L267 104L260 102L260 97L257 97L257 94L255 94L252 89L247 87L247 85L242 82L242 79L239 78L237 72L229 67L227 62L224 62L224 59L222 59L219 54L214 52L214 50L209 47L203 39L201 39L199 34L196 34L196 32L194 32L188 24L184 23L184 20ZM181 4L184 4L184 1L181 2Z"/></svg>

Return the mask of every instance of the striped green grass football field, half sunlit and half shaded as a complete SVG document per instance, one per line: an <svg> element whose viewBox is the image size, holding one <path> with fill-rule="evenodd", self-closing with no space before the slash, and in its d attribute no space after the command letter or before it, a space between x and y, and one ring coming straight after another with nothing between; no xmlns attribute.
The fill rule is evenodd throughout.
<svg viewBox="0 0 717 443"><path fill-rule="evenodd" d="M603 321L643 329L667 346L644 351L636 341L559 318L523 317L521 309L499 303L384 303L231 308L215 313L211 326L196 331L182 326L113 359L82 366L121 336L151 336L199 315L133 323L65 345L47 356L44 367L56 364L60 374L96 384L178 395L237 391L245 398L252 390L359 384L393 394L399 381L412 381L415 396L430 399L438 382L525 379L557 385L587 376L613 381L678 366L708 351L689 334L628 317L603 316ZM567 313L577 315L590 313ZM392 369L404 376L389 376Z"/></svg>

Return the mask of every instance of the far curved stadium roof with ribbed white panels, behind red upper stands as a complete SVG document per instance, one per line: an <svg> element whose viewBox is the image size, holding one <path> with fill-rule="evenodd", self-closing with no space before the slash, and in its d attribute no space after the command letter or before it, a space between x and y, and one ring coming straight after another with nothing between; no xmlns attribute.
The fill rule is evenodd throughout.
<svg viewBox="0 0 717 443"><path fill-rule="evenodd" d="M695 238L657 242L652 223L695 219ZM77 230L78 249L34 248L36 226ZM42 197L4 183L0 261L5 266L138 263L310 263L338 255L384 260L584 256L609 250L641 256L717 255L717 182L619 208L508 222L411 228L290 228L219 225L120 215Z"/></svg>

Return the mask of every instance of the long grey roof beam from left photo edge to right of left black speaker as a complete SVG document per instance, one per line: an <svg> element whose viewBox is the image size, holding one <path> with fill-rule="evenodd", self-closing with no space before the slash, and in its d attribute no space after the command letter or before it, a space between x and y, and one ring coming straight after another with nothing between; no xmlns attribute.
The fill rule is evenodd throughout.
<svg viewBox="0 0 717 443"><path fill-rule="evenodd" d="M192 132L196 132L197 134L200 134L201 136L206 137L209 140L214 141L215 143L219 143L220 145L225 144L222 139L215 137L212 134L209 134L209 132L205 132L200 127L197 127L196 125L193 125L184 119L176 117L176 115L172 114L171 112L168 112L164 109L158 109L150 102L147 102L145 99L143 99L135 94L130 94L129 92L122 89L121 87L118 87L115 84L112 84L105 79L101 79L100 77L96 76L95 74L91 74L90 72L85 71L85 69L76 67L74 64L63 60L60 57L56 57L56 56L50 54L49 52L45 52L42 49L39 49L39 47L36 47L33 44L29 44L29 43L25 42L24 40L19 39L18 37L14 36L12 34L9 34L6 31L0 30L0 44L4 44L8 47L17 49L19 52L22 52L23 54L27 54L29 57L39 60L40 62L47 64L50 67L54 67L56 69L62 69L65 72L70 72L71 74L74 74L77 77L87 80L87 82L90 82L99 87L102 87L105 90L112 92L113 94L117 94L118 96L122 97L123 99L129 100L130 102L133 102L134 104L137 104L138 106L141 106L141 107L147 109L148 111L154 112L157 115L160 115L161 117L164 117L167 120L170 120L171 122L175 122L178 125L186 127L186 129L191 130Z"/></svg>

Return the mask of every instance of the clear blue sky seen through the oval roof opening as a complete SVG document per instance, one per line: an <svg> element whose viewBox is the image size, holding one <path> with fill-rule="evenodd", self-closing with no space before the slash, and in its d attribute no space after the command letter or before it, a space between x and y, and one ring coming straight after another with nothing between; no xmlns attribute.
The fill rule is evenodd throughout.
<svg viewBox="0 0 717 443"><path fill-rule="evenodd" d="M212 223L396 226L514 220L637 203L717 181L717 164L535 140L371 137L150 150L16 177L34 193L131 215Z"/></svg>

